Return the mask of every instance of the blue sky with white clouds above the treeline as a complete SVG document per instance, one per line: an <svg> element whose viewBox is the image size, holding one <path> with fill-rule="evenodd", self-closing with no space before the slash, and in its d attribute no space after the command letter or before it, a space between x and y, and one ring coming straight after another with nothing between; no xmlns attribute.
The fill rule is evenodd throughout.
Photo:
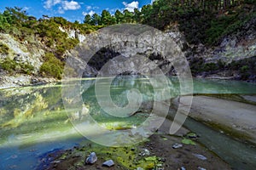
<svg viewBox="0 0 256 170"><path fill-rule="evenodd" d="M143 5L151 3L151 0L1 0L0 12L5 7L20 7L26 9L27 13L42 18L43 14L51 16L62 16L67 20L84 20L85 14L101 14L103 9L114 13L116 9L133 10L142 8Z"/></svg>

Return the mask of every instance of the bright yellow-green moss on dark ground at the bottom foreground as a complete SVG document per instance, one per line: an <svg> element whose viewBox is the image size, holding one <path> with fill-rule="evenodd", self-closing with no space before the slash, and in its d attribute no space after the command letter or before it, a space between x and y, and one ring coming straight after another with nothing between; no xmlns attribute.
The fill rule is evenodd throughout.
<svg viewBox="0 0 256 170"><path fill-rule="evenodd" d="M158 169L162 166L162 161L158 156L140 156L140 145L133 145L128 147L106 147L100 144L84 142L84 146L75 148L70 151L64 152L57 160L70 161L75 156L79 156L75 162L70 165L71 167L81 167L84 169L89 168L84 165L84 160L91 152L96 152L98 162L104 162L112 159L119 169Z"/></svg>

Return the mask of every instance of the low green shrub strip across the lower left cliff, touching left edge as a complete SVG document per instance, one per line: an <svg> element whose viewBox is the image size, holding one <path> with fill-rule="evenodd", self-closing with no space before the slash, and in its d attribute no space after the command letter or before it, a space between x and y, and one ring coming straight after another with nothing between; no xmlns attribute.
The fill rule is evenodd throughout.
<svg viewBox="0 0 256 170"><path fill-rule="evenodd" d="M6 58L0 63L3 70L9 71L9 73L24 73L31 74L34 71L34 67L29 64L17 63L14 59Z"/></svg>

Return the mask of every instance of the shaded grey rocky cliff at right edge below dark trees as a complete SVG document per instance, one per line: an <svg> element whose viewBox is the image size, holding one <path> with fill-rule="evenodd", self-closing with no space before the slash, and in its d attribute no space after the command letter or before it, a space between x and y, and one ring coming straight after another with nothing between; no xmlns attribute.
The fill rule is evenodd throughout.
<svg viewBox="0 0 256 170"><path fill-rule="evenodd" d="M225 36L218 45L190 45L190 68L196 77L256 81L256 18Z"/></svg>

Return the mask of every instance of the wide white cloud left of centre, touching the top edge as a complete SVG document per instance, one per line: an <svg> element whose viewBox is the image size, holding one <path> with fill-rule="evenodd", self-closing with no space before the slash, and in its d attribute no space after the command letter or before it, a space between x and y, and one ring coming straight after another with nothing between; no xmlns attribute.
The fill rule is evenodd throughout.
<svg viewBox="0 0 256 170"><path fill-rule="evenodd" d="M61 1L61 0L47 0L44 2L44 8L52 8L59 5L58 12L64 14L66 10L77 10L81 8L80 4L76 1Z"/></svg>

